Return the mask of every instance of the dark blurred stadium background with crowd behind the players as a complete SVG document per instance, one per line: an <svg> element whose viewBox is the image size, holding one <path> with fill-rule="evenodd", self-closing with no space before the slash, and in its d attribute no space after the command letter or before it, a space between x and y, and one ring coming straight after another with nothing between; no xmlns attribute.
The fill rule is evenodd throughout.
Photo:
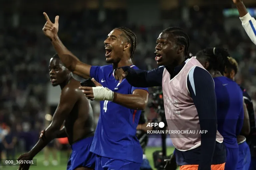
<svg viewBox="0 0 256 170"><path fill-rule="evenodd" d="M244 3L255 17L256 1ZM42 32L43 12L51 20L60 16L62 42L91 65L105 64L103 41L113 28L125 26L138 38L134 64L155 68L153 52L159 33L169 26L181 27L190 36L193 54L209 46L227 48L239 62L237 78L256 101L256 46L243 30L232 0L0 0L0 123L11 126L17 136L16 155L36 143L59 102L60 88L52 87L48 76L55 51ZM99 103L92 102L92 106L96 126ZM146 114L152 119L156 112L148 108ZM167 146L170 154L170 139ZM152 152L160 147L161 137L150 136L146 154L151 165ZM60 151L58 166L43 166L43 152L36 158L38 166L31 169L66 167L67 156Z"/></svg>

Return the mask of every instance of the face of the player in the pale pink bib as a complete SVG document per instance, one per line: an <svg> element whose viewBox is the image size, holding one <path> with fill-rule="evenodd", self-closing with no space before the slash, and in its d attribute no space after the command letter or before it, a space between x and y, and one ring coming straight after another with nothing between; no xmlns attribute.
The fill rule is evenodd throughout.
<svg viewBox="0 0 256 170"><path fill-rule="evenodd" d="M157 65L171 65L178 57L178 47L179 45L177 45L170 34L161 33L156 40L155 47Z"/></svg>

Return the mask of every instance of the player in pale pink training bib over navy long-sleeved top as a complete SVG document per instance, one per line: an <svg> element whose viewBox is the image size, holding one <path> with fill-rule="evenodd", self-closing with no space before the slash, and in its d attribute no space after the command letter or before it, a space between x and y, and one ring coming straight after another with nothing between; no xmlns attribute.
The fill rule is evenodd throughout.
<svg viewBox="0 0 256 170"><path fill-rule="evenodd" d="M158 37L150 71L118 68L115 78L135 87L162 86L167 125L173 130L207 130L207 133L171 133L176 162L181 170L223 170L226 152L217 131L214 82L194 57L188 59L189 37L180 28L165 29Z"/></svg>

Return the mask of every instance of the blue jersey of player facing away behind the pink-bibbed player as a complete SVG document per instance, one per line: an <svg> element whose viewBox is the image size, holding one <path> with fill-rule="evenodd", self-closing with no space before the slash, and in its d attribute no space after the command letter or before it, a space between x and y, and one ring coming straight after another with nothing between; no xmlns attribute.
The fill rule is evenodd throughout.
<svg viewBox="0 0 256 170"><path fill-rule="evenodd" d="M243 93L233 80L221 76L213 78L217 101L217 129L226 147L238 148L236 136L243 126Z"/></svg>

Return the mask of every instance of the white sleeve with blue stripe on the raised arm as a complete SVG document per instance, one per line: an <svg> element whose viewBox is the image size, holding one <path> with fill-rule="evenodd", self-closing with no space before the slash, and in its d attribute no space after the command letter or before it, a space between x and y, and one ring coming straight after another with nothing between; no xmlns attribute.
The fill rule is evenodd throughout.
<svg viewBox="0 0 256 170"><path fill-rule="evenodd" d="M252 40L252 42L256 45L256 21L255 21L255 19L252 18L249 13L247 13L245 16L240 17L240 20L242 21L242 26L244 27L244 30L246 31L247 35Z"/></svg>

